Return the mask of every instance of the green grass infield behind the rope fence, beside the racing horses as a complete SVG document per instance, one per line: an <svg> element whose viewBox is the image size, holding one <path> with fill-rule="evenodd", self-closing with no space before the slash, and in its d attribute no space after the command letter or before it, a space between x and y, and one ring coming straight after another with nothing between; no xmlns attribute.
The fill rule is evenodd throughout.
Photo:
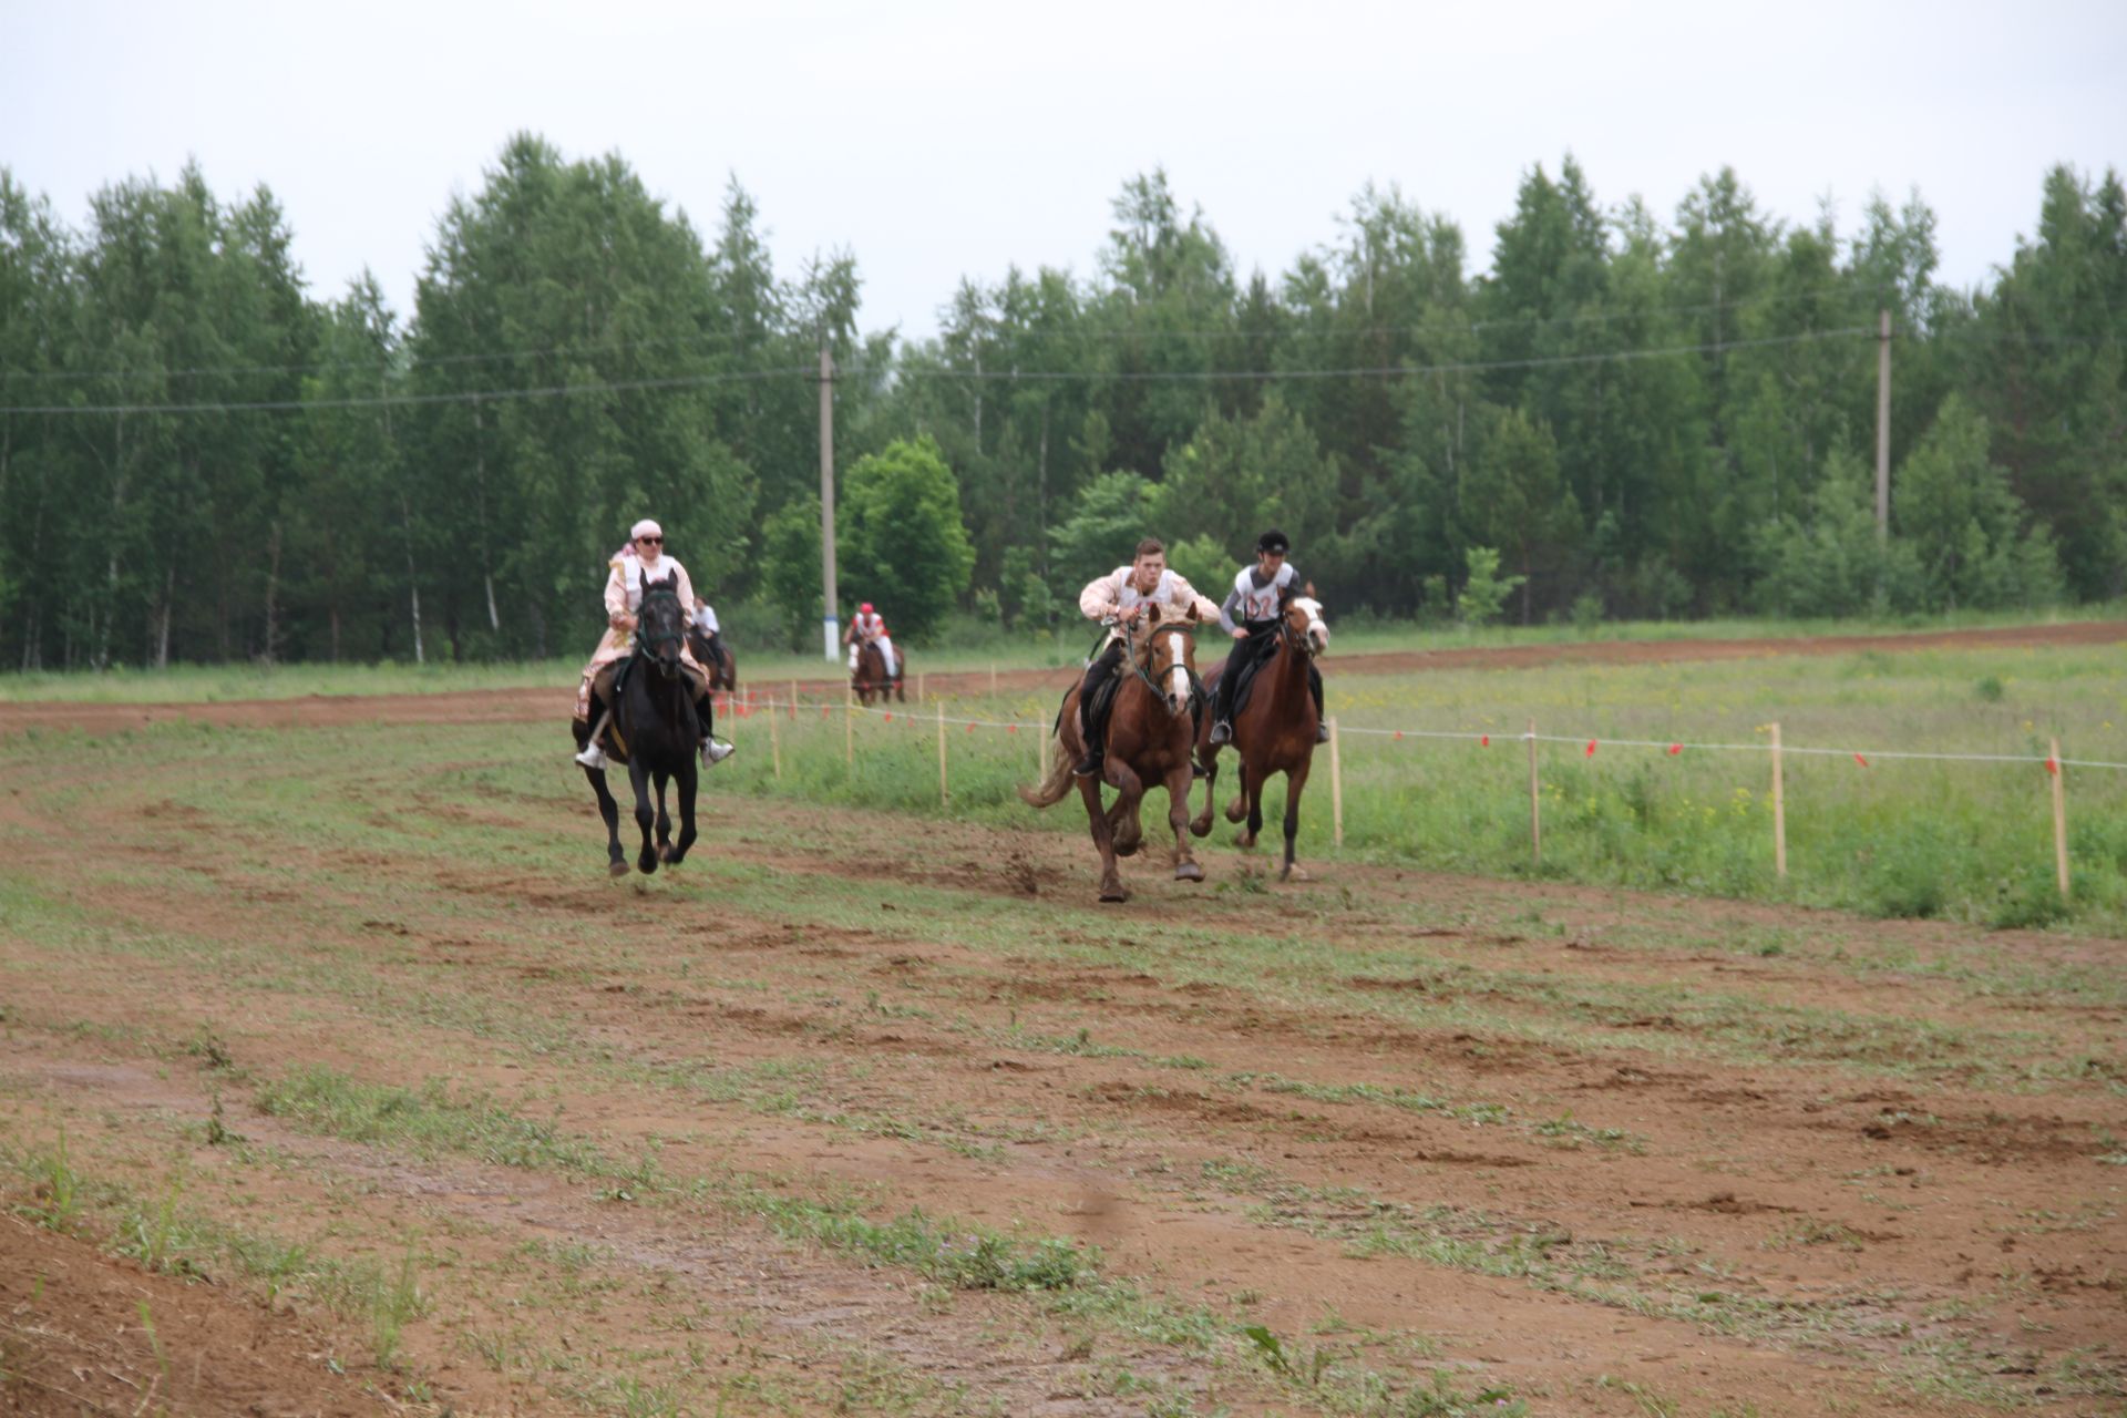
<svg viewBox="0 0 2127 1418"><path fill-rule="evenodd" d="M1987 925L2074 923L2127 933L2127 772L2070 767L2074 899L2053 876L2050 784L2042 763L1785 757L1789 878L1774 876L1765 753L1606 748L1604 740L1787 748L1970 753L2127 763L2127 668L2110 648L1923 651L1719 663L1457 670L1336 676L1329 710L1344 729L1344 844L1363 861L1500 876L1548 876L1748 899L1844 906L1882 916L1950 916ZM1068 672L1057 687L1068 685ZM857 721L844 765L840 714L810 710L778 725L772 772L766 719L730 721L747 744L725 791L821 804L1017 823L1012 787L1034 776L1036 723L1055 697L959 697L959 719L1019 721L949 733L951 806L938 795L929 708ZM1529 861L1529 721L1570 744L1540 750L1544 863ZM1374 731L1459 731L1461 740ZM1491 736L1489 748L1478 744ZM1597 750L1587 755L1585 740ZM1327 755L1308 787L1302 855L1329 855ZM1232 763L1232 761L1229 761ZM1232 774L1221 782L1221 806ZM1202 791L1202 789L1200 789ZM1266 795L1280 821L1283 778ZM1163 797L1153 797L1163 812ZM1198 797L1198 801L1202 801ZM1083 831L1068 799L1046 818ZM1155 840L1163 842L1161 835ZM1215 840L1229 835L1223 818Z"/></svg>

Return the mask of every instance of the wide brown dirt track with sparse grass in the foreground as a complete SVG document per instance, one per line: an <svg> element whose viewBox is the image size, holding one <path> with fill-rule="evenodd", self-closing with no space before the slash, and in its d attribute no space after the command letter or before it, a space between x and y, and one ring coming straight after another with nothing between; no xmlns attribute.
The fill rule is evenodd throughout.
<svg viewBox="0 0 2127 1418"><path fill-rule="evenodd" d="M391 704L440 699L474 702ZM493 753L404 742L432 740L445 772ZM108 1299L147 1282L206 1354L172 1414L330 1409L325 1352L457 1414L613 1407L583 1397L598 1365L708 1384L670 1412L772 1388L725 1412L961 1412L964 1390L966 1412L1144 1414L1146 1384L1206 1414L1323 1412L1310 1384L1361 1367L1536 1414L2087 1414L2123 1392L2127 1008L2078 984L2116 980L2118 942L1359 865L1246 887L1223 848L1206 889L1132 863L1115 912L1070 835L753 799L679 874L610 884L568 774L466 789L370 755L200 753L9 761L0 887L45 925L0 921L0 1133L66 1125L83 1171L149 1197L179 1167L187 1205L385 1259L423 1235L445 1261L376 1369L359 1316L259 1331L255 1284L221 1267L164 1299L85 1242L0 1227L0 1273L47 1276L36 1307L4 1290L0 1344L117 1324L106 1405L157 1384ZM208 776L238 789L198 793ZM1236 1329L1193 1350L1146 1337L1178 1320L938 1295L715 1208L247 1103L315 1065L525 1099L613 1154L655 1148L672 1186L787 1178L874 1218L1098 1246L1161 1305L1263 1324L1289 1373ZM219 1097L274 1165L202 1142ZM230 1346L266 1354L223 1382Z"/></svg>

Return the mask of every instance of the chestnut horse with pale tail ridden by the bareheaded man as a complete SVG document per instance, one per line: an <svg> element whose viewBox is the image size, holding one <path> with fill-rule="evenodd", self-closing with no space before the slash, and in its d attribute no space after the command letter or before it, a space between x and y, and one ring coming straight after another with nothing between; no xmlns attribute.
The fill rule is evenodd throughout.
<svg viewBox="0 0 2127 1418"><path fill-rule="evenodd" d="M1138 808L1151 787L1168 791L1168 825L1174 827L1174 880L1200 882L1204 867L1189 853L1189 744L1195 725L1195 614L1144 608L1144 627L1125 627L1125 657L1117 670L1115 702L1108 710L1106 782L1119 789L1115 806L1102 810L1098 778L1076 778L1085 816L1100 848L1100 899L1127 901L1129 891L1115 867L1117 857L1134 857L1144 844ZM1078 693L1064 693L1057 712L1055 757L1038 787L1021 787L1034 808L1049 808L1070 793L1072 765L1085 753L1078 731Z"/></svg>

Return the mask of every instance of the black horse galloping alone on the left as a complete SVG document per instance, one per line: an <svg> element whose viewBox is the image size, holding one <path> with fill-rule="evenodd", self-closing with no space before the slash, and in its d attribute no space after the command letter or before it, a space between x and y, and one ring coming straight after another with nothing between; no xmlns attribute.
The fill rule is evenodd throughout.
<svg viewBox="0 0 2127 1418"><path fill-rule="evenodd" d="M627 780L636 791L636 825L642 829L642 850L636 870L644 876L657 863L679 865L693 846L696 750L702 742L702 721L693 712L696 689L679 648L687 642L687 612L679 604L679 572L664 580L642 583L642 606L636 610L634 655L613 672L613 708L602 723L606 755L627 763ZM591 740L591 725L576 723L576 746ZM598 793L598 816L606 821L606 872L627 876L621 853L621 808L606 789L606 770L585 767ZM651 782L657 784L657 810L651 810ZM666 784L679 784L679 840L672 840L672 818L666 814ZM657 829L655 850L651 827Z"/></svg>

